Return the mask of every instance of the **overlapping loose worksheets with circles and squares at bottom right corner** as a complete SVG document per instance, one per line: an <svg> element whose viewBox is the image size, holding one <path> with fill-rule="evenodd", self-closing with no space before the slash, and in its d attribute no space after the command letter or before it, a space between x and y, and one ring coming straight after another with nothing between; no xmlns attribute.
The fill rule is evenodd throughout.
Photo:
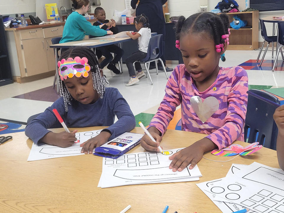
<svg viewBox="0 0 284 213"><path fill-rule="evenodd" d="M235 171L229 171L225 178L196 185L215 201L227 200L248 207L251 212L284 213L283 170L254 162Z"/></svg>

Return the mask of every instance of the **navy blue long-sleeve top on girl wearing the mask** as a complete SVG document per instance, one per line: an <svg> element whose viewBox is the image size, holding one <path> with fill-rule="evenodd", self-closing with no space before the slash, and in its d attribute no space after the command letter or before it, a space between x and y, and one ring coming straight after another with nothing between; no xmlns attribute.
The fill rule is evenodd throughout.
<svg viewBox="0 0 284 213"><path fill-rule="evenodd" d="M35 144L38 144L40 139L50 132L48 128L62 127L52 109L57 109L67 127L70 128L109 126L106 128L112 134L109 140L129 132L136 125L135 117L127 101L116 88L109 87L106 88L104 97L93 104L82 104L72 100L71 105L68 106L68 112L65 112L63 97L57 99L25 128L25 134ZM114 123L115 115L118 121Z"/></svg>

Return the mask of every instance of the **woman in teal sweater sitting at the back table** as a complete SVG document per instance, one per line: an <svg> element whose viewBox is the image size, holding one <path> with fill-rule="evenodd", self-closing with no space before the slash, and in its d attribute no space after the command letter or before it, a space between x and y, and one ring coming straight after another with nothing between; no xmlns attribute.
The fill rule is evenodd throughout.
<svg viewBox="0 0 284 213"><path fill-rule="evenodd" d="M104 24L93 26L91 22L88 22L83 16L90 8L89 0L72 0L72 2L72 6L76 10L68 16L64 25L62 39L59 43L80 41L84 39L85 35L112 35L112 31L101 29Z"/></svg>

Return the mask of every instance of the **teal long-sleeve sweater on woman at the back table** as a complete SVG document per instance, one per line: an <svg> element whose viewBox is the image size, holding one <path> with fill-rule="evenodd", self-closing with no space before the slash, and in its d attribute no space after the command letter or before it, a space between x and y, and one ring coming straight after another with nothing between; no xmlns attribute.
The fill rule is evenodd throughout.
<svg viewBox="0 0 284 213"><path fill-rule="evenodd" d="M103 36L106 34L106 30L100 29L99 26L93 26L83 15L74 11L65 22L63 35L59 43L80 41L84 39L85 35Z"/></svg>

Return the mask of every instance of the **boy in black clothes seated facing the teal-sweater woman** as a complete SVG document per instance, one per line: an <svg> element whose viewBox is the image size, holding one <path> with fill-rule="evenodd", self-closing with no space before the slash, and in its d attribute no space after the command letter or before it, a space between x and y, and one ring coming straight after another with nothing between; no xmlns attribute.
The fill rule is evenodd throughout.
<svg viewBox="0 0 284 213"><path fill-rule="evenodd" d="M110 21L106 20L106 13L103 8L97 7L95 9L95 16L98 19L98 21L94 22L93 25L99 26L99 25L105 24L104 26L102 26L104 30L110 30L113 32L113 34L118 33L118 29L115 24L115 21L113 19L111 19ZM107 46L98 47L96 48L96 50L98 50L98 54L96 51L97 56L101 54L105 57L105 59L100 64L101 68L103 69L107 64L109 64L107 66L109 70L112 70L112 72L116 74L120 74L120 70L116 68L115 64L119 62L120 58L124 54L123 49L119 48L118 46L114 44L111 44ZM112 53L115 54L114 58L112 57Z"/></svg>

